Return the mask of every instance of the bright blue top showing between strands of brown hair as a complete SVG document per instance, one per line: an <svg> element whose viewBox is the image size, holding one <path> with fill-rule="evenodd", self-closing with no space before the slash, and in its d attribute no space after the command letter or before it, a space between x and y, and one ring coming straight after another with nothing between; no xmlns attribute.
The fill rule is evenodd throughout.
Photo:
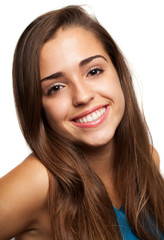
<svg viewBox="0 0 164 240"><path fill-rule="evenodd" d="M130 225L128 223L128 219L125 216L124 208L121 207L120 209L117 209L114 207L117 220L119 223L119 227L121 230L122 238L123 240L140 240L136 235L132 232ZM164 240L164 236L160 235L161 239Z"/></svg>

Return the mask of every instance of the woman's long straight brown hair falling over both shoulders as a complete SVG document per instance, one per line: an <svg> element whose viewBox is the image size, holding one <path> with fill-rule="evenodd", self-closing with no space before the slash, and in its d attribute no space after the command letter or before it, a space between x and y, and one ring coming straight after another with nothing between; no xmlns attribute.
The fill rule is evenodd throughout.
<svg viewBox="0 0 164 240"><path fill-rule="evenodd" d="M80 26L102 42L118 73L125 114L116 133L115 181L131 229L140 239L164 233L163 178L152 159L150 135L126 61L109 33L80 6L34 20L20 37L13 63L17 113L24 137L49 170L49 211L54 239L122 239L110 196L80 147L51 130L42 107L39 55L59 28ZM154 227L156 226L156 227Z"/></svg>

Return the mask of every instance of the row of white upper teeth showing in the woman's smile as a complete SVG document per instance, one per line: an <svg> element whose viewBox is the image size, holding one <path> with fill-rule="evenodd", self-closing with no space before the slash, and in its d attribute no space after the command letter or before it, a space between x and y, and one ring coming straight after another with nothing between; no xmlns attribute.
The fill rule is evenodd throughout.
<svg viewBox="0 0 164 240"><path fill-rule="evenodd" d="M100 118L106 111L106 107L104 108L101 108L83 118L80 118L78 120L76 120L76 122L78 123L87 123L87 122L92 122L92 121L95 121L97 120L98 118Z"/></svg>

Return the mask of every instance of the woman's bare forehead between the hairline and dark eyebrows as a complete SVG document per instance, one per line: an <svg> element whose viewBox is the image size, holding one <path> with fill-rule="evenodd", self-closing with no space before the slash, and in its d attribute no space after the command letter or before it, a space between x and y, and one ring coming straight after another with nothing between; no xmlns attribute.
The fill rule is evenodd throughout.
<svg viewBox="0 0 164 240"><path fill-rule="evenodd" d="M59 29L41 49L40 76L44 78L57 71L73 72L83 59L94 55L103 55L110 61L93 33L80 27Z"/></svg>

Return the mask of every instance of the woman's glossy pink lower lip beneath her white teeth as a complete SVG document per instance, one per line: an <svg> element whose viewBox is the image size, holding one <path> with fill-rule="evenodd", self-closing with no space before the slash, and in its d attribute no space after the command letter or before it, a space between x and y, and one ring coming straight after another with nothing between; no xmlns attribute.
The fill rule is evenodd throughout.
<svg viewBox="0 0 164 240"><path fill-rule="evenodd" d="M95 121L92 121L92 122L87 122L87 123L78 123L78 122L74 122L74 121L71 121L75 126L78 126L78 127L81 127L81 128L92 128L92 127L97 127L99 124L103 123L104 120L106 119L107 115L108 115L108 112L109 112L109 105L106 106L106 111L105 113L100 117L98 118L97 120Z"/></svg>

